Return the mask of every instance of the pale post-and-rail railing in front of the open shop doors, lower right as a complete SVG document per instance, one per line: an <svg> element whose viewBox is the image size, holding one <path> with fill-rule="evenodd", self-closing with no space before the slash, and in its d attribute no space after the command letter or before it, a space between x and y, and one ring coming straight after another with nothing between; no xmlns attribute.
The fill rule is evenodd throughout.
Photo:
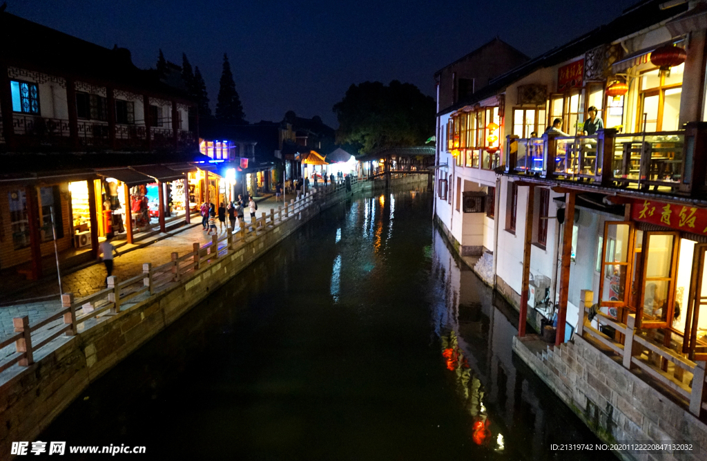
<svg viewBox="0 0 707 461"><path fill-rule="evenodd" d="M582 321L577 326L578 335L592 338L612 350L613 353L621 357L621 363L627 370L631 370L632 366L639 368L662 387L670 389L673 394L682 397L692 414L700 416L702 409L707 410L707 401L703 397L703 390L706 388L705 368L707 362L693 362L681 353L651 341L650 335L655 334L655 330L636 329L636 314L629 314L627 323L623 324L602 312L597 312L593 321L597 322L599 328L602 325L610 326L614 331L619 332L623 342L616 341L611 336L602 333L599 328L592 326L589 321L588 312L592 306L592 298L592 291L582 290L580 296L580 319ZM660 365L656 365L655 362ZM668 363L673 365L672 373L669 372Z"/></svg>

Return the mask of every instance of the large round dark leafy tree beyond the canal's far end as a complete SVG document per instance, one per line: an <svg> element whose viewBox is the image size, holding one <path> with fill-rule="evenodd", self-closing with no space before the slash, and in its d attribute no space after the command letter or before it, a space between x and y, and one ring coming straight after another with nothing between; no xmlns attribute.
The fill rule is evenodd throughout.
<svg viewBox="0 0 707 461"><path fill-rule="evenodd" d="M334 104L339 120L337 143L361 154L383 147L423 145L435 131L435 101L413 84L397 80L351 85Z"/></svg>

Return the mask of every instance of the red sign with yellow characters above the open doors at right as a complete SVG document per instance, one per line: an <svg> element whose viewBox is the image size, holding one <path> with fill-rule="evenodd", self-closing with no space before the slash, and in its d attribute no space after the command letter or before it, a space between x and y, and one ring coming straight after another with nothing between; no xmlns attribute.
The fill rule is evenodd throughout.
<svg viewBox="0 0 707 461"><path fill-rule="evenodd" d="M633 200L631 219L658 226L707 235L707 210L655 200Z"/></svg>

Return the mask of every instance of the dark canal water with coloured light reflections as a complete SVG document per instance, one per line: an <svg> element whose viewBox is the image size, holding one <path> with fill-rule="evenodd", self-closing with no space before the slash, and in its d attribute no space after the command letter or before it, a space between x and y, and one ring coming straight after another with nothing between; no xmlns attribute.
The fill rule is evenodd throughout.
<svg viewBox="0 0 707 461"><path fill-rule="evenodd" d="M597 443L513 355L517 314L431 215L424 191L324 212L37 440L149 460L563 460L552 443Z"/></svg>

